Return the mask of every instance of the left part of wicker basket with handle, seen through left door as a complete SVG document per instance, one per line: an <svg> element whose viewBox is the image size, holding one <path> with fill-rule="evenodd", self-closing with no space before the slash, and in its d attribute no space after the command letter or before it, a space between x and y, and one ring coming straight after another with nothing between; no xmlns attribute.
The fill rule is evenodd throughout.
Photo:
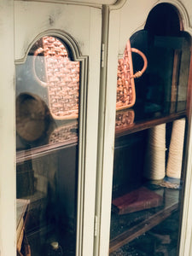
<svg viewBox="0 0 192 256"><path fill-rule="evenodd" d="M38 78L37 56L44 54L46 82ZM53 37L43 38L43 48L34 52L33 71L38 83L47 87L49 109L54 119L77 119L79 115L79 61L70 61L67 49Z"/></svg>

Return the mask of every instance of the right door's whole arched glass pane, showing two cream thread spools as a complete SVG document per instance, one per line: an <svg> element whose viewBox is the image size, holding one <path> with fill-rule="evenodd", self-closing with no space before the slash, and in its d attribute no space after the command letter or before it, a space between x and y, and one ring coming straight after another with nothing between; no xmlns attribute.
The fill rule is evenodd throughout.
<svg viewBox="0 0 192 256"><path fill-rule="evenodd" d="M175 9L162 4L154 20L160 22L161 7L163 19L166 11L168 20L175 19ZM166 34L162 27L152 31L147 23L119 59L111 256L177 255L191 43L173 23L176 32L168 23L171 31Z"/></svg>

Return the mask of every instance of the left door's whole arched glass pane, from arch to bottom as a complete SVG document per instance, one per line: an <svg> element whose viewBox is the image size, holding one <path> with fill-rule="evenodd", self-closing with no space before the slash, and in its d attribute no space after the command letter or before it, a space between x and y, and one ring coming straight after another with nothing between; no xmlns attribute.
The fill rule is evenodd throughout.
<svg viewBox="0 0 192 256"><path fill-rule="evenodd" d="M16 66L17 250L33 256L75 254L80 63L70 50L40 38Z"/></svg>

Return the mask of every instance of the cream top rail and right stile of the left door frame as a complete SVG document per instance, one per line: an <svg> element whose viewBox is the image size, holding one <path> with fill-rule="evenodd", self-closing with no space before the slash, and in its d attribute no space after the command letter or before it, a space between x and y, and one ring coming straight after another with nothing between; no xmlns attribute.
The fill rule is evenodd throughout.
<svg viewBox="0 0 192 256"><path fill-rule="evenodd" d="M34 15L35 14L35 15ZM26 22L27 20L27 22ZM96 143L101 57L102 10L98 7L61 3L15 1L15 61L23 62L32 44L43 35L54 33L68 37L79 46L80 56L88 56L87 82L82 102L84 150L79 153L82 168L79 173L79 226L77 255L93 252ZM65 35L64 35L65 36ZM85 72L85 70L84 70ZM84 93L84 91L83 91ZM84 126L83 126L84 125Z"/></svg>

